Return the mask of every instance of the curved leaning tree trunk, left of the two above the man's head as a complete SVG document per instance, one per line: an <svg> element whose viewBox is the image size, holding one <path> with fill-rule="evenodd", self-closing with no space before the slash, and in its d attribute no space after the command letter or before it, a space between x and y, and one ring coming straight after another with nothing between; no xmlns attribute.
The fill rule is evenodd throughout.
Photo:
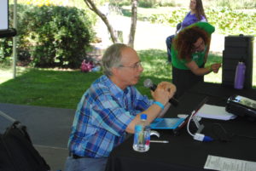
<svg viewBox="0 0 256 171"><path fill-rule="evenodd" d="M86 5L88 6L88 8L92 11L94 11L99 17L101 17L101 19L103 20L103 22L105 23L105 25L108 27L108 31L110 33L110 37L113 43L117 43L117 37L114 35L114 31L113 31L113 27L109 24L108 22L108 18L106 17L105 14L102 14L102 12L96 8L95 3L93 3L93 1L91 0L84 0L84 3L86 3Z"/></svg>

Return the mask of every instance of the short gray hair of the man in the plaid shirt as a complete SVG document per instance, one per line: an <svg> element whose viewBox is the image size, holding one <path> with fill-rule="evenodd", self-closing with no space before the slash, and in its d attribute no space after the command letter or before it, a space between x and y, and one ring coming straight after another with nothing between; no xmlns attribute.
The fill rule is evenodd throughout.
<svg viewBox="0 0 256 171"><path fill-rule="evenodd" d="M122 58L122 50L124 48L128 48L126 44L123 43L114 43L110 47L107 48L102 57L102 67L103 73L106 76L112 76L111 68L113 66L120 66L121 58Z"/></svg>

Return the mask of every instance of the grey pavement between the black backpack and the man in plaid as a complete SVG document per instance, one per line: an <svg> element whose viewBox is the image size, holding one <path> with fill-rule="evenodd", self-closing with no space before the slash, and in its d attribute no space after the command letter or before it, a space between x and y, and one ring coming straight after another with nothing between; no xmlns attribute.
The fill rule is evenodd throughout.
<svg viewBox="0 0 256 171"><path fill-rule="evenodd" d="M0 111L27 127L33 145L49 164L51 171L64 170L68 155L67 140L75 110L0 103ZM10 124L0 116L0 133Z"/></svg>

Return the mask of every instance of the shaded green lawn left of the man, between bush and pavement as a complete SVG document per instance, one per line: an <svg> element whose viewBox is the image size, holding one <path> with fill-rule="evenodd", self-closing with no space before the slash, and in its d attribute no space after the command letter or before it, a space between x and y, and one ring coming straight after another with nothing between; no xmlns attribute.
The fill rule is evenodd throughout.
<svg viewBox="0 0 256 171"><path fill-rule="evenodd" d="M0 84L0 101L21 105L75 108L100 73L29 69Z"/></svg>

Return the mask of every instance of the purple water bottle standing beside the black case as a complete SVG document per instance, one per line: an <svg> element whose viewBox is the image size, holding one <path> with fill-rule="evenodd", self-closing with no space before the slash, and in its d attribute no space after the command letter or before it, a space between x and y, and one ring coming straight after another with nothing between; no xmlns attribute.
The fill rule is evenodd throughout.
<svg viewBox="0 0 256 171"><path fill-rule="evenodd" d="M236 89L243 88L245 71L246 71L245 64L242 61L238 62L236 66L236 77L235 77L234 88Z"/></svg>

